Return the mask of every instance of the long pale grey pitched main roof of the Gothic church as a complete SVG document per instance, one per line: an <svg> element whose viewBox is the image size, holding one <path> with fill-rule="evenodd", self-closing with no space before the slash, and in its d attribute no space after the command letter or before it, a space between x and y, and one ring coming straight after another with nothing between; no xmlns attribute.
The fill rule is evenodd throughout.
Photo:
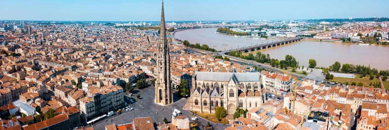
<svg viewBox="0 0 389 130"><path fill-rule="evenodd" d="M238 81L260 81L260 73L226 73L226 72L203 72L196 71L196 80L230 81L235 75Z"/></svg>

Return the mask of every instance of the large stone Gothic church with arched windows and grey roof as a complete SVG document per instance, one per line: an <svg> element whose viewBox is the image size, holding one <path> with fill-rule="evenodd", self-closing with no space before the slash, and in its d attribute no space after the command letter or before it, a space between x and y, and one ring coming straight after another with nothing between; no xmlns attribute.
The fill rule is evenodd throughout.
<svg viewBox="0 0 389 130"><path fill-rule="evenodd" d="M196 71L192 76L191 110L214 113L216 107L235 113L237 107L252 109L263 103L260 73Z"/></svg>

